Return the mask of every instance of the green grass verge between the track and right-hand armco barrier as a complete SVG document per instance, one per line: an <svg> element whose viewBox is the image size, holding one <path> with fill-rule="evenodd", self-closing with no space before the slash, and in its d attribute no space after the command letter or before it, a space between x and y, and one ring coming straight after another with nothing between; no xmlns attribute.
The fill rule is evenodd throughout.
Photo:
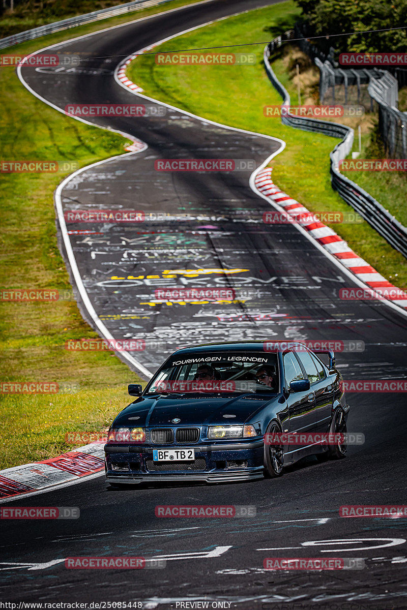
<svg viewBox="0 0 407 610"><path fill-rule="evenodd" d="M231 49L224 50L255 52L258 60L254 66L157 65L153 56L142 56L129 65L128 76L153 98L213 121L283 139L287 146L273 160L273 181L312 212L345 213L351 208L332 190L330 180L329 154L338 140L286 127L278 118L267 118L263 114L266 104L279 104L281 98L264 70L265 45L249 46L248 43L270 40L292 26L298 16L294 2L282 2L219 21L154 49L168 52L231 45ZM248 46L233 49L235 41ZM293 90L283 59L273 62L273 70ZM369 224L331 226L379 273L406 289L405 258Z"/></svg>

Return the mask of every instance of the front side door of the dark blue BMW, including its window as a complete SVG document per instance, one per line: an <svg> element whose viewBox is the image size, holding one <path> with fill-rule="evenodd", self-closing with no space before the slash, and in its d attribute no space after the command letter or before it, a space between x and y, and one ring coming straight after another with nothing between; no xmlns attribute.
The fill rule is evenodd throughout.
<svg viewBox="0 0 407 610"><path fill-rule="evenodd" d="M289 390L290 382L297 379L307 379L301 369L297 357L292 351L283 354L284 387ZM309 432L314 431L316 426L315 399L312 389L302 392L290 392L286 401L289 407L289 431L290 432ZM284 432L284 431L283 431ZM289 452L300 450L301 447L290 443Z"/></svg>

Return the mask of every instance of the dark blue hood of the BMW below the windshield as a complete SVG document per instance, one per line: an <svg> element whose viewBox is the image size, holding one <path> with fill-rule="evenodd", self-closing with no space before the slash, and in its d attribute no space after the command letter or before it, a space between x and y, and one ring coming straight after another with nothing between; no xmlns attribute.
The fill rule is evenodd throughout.
<svg viewBox="0 0 407 610"><path fill-rule="evenodd" d="M274 400L277 396L268 395L250 398L240 395L234 397L141 397L129 404L118 414L113 426L146 427L152 426L205 426L216 424L243 424L259 409ZM234 417L224 417L234 415ZM179 422L172 422L178 418Z"/></svg>

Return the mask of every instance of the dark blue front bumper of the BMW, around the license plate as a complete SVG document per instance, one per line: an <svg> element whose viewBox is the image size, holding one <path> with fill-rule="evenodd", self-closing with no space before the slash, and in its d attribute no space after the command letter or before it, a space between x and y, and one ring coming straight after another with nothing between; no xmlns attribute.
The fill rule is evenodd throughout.
<svg viewBox="0 0 407 610"><path fill-rule="evenodd" d="M189 445L193 462L154 462L154 449L179 449L179 445L105 445L106 476L110 483L154 481L248 481L262 478L264 440L228 445Z"/></svg>

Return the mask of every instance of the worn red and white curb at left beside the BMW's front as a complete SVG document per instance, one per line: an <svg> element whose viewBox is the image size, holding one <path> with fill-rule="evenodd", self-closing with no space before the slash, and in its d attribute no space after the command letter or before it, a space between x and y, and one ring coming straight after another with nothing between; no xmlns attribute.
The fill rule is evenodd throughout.
<svg viewBox="0 0 407 610"><path fill-rule="evenodd" d="M104 471L104 443L78 447L57 458L0 470L0 503L16 496L34 495L61 484L79 482L82 477Z"/></svg>

